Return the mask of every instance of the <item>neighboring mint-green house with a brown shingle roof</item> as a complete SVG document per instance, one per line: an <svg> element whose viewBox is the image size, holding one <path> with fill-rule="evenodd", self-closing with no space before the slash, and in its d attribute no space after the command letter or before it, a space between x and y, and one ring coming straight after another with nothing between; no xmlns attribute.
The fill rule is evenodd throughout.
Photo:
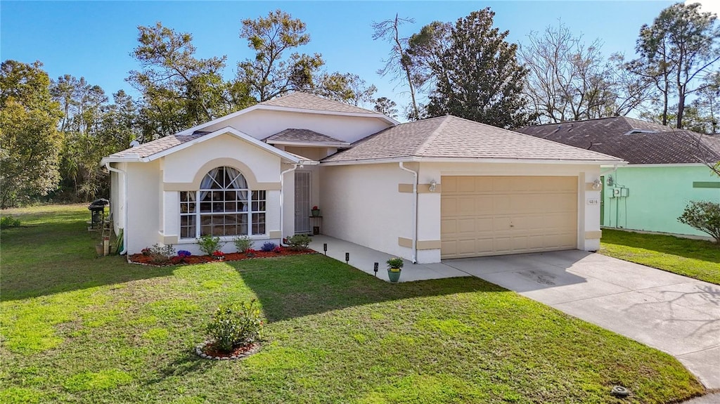
<svg viewBox="0 0 720 404"><path fill-rule="evenodd" d="M672 129L624 116L544 124L516 132L621 157L604 167L600 225L671 234L707 234L678 221L688 201L720 202L720 134Z"/></svg>

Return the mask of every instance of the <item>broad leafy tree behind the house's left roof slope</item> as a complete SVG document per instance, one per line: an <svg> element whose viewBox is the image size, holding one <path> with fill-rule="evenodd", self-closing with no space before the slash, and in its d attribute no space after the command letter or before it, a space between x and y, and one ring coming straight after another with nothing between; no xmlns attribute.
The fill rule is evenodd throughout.
<svg viewBox="0 0 720 404"><path fill-rule="evenodd" d="M196 58L192 35L160 22L138 32L140 45L132 55L142 69L131 71L127 81L143 93L145 137L173 134L248 106L245 87L222 79L225 56Z"/></svg>

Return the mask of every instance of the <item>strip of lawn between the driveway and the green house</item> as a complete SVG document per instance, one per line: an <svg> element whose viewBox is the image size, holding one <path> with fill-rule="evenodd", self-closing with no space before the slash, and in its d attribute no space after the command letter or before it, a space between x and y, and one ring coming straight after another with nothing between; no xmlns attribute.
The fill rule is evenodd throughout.
<svg viewBox="0 0 720 404"><path fill-rule="evenodd" d="M720 246L712 242L603 229L600 254L720 285Z"/></svg>

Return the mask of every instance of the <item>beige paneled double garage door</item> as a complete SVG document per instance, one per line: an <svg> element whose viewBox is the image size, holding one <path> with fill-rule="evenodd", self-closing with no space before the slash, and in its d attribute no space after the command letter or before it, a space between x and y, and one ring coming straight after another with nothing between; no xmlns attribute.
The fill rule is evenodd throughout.
<svg viewBox="0 0 720 404"><path fill-rule="evenodd" d="M441 179L441 257L574 249L577 177Z"/></svg>

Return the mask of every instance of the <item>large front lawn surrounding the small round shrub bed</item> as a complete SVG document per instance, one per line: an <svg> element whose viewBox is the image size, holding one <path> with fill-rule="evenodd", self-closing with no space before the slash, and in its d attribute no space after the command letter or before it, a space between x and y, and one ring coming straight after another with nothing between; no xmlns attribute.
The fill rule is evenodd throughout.
<svg viewBox="0 0 720 404"><path fill-rule="evenodd" d="M474 277L392 285L323 255L154 268L95 258L82 206L1 234L1 403L670 403L670 355ZM412 270L406 268L405 270ZM258 298L261 352L194 356ZM631 398L613 398L624 385Z"/></svg>

